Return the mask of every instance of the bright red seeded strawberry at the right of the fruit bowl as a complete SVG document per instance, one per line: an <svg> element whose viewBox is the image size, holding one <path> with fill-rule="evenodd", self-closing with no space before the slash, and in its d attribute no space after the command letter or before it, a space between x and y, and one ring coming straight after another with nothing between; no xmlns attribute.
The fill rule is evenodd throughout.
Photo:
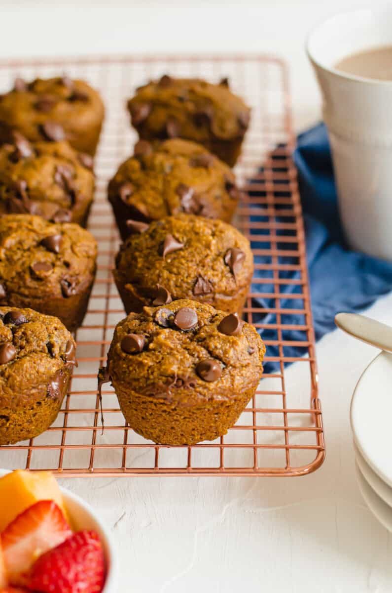
<svg viewBox="0 0 392 593"><path fill-rule="evenodd" d="M105 557L95 531L78 531L38 558L28 588L41 593L101 593Z"/></svg>

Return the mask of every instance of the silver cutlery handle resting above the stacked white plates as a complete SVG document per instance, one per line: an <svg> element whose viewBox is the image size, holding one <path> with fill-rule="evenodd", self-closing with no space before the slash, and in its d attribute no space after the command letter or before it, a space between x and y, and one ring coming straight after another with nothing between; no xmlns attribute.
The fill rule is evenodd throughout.
<svg viewBox="0 0 392 593"><path fill-rule="evenodd" d="M371 344L386 352L392 352L392 327L356 313L338 313L335 323L362 342Z"/></svg>

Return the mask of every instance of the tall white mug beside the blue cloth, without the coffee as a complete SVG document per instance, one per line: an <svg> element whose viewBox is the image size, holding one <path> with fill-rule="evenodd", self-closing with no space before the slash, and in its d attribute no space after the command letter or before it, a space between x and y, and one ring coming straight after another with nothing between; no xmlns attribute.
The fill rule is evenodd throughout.
<svg viewBox="0 0 392 593"><path fill-rule="evenodd" d="M342 58L392 45L392 5L330 17L307 39L323 97L349 245L392 262L392 81L339 72Z"/></svg>

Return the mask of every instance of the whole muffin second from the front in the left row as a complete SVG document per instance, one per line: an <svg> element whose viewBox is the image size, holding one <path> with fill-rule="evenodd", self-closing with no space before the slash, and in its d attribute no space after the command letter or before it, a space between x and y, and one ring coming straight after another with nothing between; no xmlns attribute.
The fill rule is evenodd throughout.
<svg viewBox="0 0 392 593"><path fill-rule="evenodd" d="M0 306L56 315L73 331L83 321L97 243L77 224L40 216L0 216Z"/></svg>

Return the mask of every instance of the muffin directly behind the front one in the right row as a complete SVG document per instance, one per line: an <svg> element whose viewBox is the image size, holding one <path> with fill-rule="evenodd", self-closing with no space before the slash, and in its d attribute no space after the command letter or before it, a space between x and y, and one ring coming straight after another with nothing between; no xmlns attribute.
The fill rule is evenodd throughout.
<svg viewBox="0 0 392 593"><path fill-rule="evenodd" d="M248 239L226 222L192 214L134 227L114 270L127 313L189 298L240 313L253 275ZM165 296L166 295L166 296Z"/></svg>

